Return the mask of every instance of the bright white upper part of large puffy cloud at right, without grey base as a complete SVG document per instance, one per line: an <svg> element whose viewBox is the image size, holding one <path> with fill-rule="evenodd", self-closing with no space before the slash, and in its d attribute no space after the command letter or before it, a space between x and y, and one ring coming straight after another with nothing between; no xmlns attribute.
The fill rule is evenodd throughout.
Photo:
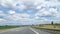
<svg viewBox="0 0 60 34"><path fill-rule="evenodd" d="M52 17L52 16L56 16L56 14L58 14L57 9L54 9L54 8L46 9L46 8L44 8L44 9L38 11L35 14L35 16L48 16L49 15L50 17Z"/></svg>

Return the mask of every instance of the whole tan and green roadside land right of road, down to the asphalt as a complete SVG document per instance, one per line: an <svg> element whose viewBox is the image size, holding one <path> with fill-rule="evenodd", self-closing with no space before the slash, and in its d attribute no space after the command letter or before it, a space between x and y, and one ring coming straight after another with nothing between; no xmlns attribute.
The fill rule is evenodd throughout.
<svg viewBox="0 0 60 34"><path fill-rule="evenodd" d="M60 34L60 24L41 24L34 26L34 28L38 28L55 34Z"/></svg>

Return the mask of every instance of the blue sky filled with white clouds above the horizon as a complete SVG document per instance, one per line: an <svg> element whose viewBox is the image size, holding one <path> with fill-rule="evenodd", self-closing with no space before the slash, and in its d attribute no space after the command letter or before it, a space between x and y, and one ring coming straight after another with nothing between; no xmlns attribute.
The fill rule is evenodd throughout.
<svg viewBox="0 0 60 34"><path fill-rule="evenodd" d="M0 0L0 25L60 23L60 0Z"/></svg>

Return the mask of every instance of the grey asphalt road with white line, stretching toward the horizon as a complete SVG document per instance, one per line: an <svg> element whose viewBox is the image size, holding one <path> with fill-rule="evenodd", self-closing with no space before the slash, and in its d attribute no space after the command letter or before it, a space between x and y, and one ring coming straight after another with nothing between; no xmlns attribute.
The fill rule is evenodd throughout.
<svg viewBox="0 0 60 34"><path fill-rule="evenodd" d="M22 27L14 30L9 30L6 32L0 32L0 34L52 34L31 27Z"/></svg>

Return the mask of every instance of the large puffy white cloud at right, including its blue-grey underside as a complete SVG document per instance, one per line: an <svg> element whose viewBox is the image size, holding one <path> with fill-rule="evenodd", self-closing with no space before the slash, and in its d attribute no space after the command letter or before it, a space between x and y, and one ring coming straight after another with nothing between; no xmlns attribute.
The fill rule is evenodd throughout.
<svg viewBox="0 0 60 34"><path fill-rule="evenodd" d="M39 10L35 14L35 19L43 20L43 21L54 21L54 20L60 20L60 12L57 11L55 8L43 8L42 10Z"/></svg>

